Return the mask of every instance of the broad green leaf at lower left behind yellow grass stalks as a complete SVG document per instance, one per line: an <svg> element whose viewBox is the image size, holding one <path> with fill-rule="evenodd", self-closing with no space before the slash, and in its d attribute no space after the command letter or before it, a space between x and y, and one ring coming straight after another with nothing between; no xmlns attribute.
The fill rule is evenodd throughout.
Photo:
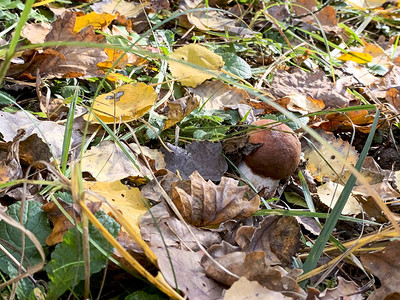
<svg viewBox="0 0 400 300"><path fill-rule="evenodd" d="M106 213L96 213L99 222L116 237L119 231L118 223ZM103 235L92 225L89 225L91 240L106 253L112 254L113 248ZM67 290L72 290L84 275L84 261L82 250L82 234L73 227L64 235L62 243L58 244L51 254L51 260L46 267L50 278L47 299L57 299ZM90 273L101 271L107 264L107 256L100 252L93 243L90 243Z"/></svg>

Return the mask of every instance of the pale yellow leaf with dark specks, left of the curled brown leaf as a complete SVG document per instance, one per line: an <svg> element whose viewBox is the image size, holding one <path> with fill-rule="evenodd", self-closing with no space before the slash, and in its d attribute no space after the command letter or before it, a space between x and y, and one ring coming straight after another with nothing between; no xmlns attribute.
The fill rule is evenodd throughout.
<svg viewBox="0 0 400 300"><path fill-rule="evenodd" d="M147 212L147 208L144 204L146 200L141 196L138 188L126 186L120 181L85 182L85 187L105 197L110 204L125 217L130 225L132 225L137 232L140 232L139 221ZM96 199L94 196L87 196L87 198L92 201L99 201L99 199ZM101 209L112 215L107 205L102 205Z"/></svg>

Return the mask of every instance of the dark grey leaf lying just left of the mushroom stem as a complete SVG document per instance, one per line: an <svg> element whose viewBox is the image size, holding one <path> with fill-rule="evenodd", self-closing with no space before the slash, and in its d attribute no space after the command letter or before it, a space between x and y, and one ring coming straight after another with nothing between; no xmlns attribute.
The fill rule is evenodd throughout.
<svg viewBox="0 0 400 300"><path fill-rule="evenodd" d="M204 179L218 181L228 170L226 159L222 155L222 145L209 141L194 141L182 149L167 143L169 152L161 149L165 157L166 168L171 172L179 172L183 179L188 179L198 171Z"/></svg>

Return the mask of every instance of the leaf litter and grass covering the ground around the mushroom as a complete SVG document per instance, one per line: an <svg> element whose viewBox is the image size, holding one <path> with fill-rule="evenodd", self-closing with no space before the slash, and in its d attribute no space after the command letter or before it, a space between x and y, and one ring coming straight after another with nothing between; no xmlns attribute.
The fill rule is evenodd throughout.
<svg viewBox="0 0 400 300"><path fill-rule="evenodd" d="M347 13L368 10L391 24L396 12L378 2L349 1ZM0 98L1 212L15 220L23 216L21 224L49 253L41 272L46 276L25 274L7 295L55 299L68 290L81 295L80 281L88 283L100 271L108 276L105 267L114 276L121 266L174 299L383 299L399 292L394 284L397 240L389 240L396 235L386 234L387 221L398 218L400 198L398 39L385 36L383 27L377 43L361 37L352 31L354 24L344 25L342 7L313 0L268 7L268 14L264 2L209 4L212 9L201 1L107 0L78 11L45 4L43 9L54 16L39 18L39 11L32 10L30 18L37 22L25 24L22 38L27 44L50 45L21 44L22 50L13 50L9 58L1 52L0 59L11 62L3 70ZM171 7L183 12L176 23L157 23ZM189 8L200 9L185 13ZM140 35L150 28L146 16L159 27ZM2 18L13 22L12 14ZM296 30L282 31L285 27ZM321 39L314 39L321 30L322 40L339 45L331 44L335 55L323 52ZM4 38L6 44L13 39ZM377 128L371 104L383 114ZM261 146L248 145L252 128L246 124L265 117L287 121L276 105L298 117L297 124L288 124L302 140L303 156L273 198L264 199L235 166ZM316 129L325 142L306 134L299 123ZM306 213L335 210L367 134L376 129L360 169L368 187L361 180L352 186L340 212L352 222L336 223L330 239L336 246L345 244L353 262L354 255L361 262L355 266L343 260L319 289L303 289L301 282L320 276L302 274L301 267L318 243L319 225L325 225L322 217ZM69 181L69 167L78 158L81 187ZM72 177L76 180L75 173ZM86 203L77 201L77 189ZM390 210L383 212L370 191ZM305 198L308 210L300 211L290 197ZM272 215L254 216L261 208ZM81 234L74 223L85 224L89 212L99 224L82 225ZM389 229L367 226L363 219ZM86 239L86 229L90 242L78 244ZM8 251L0 256L6 279L21 278L40 262L39 244L22 243L17 227L1 220L0 235ZM109 244L114 238L118 250ZM86 258L79 251L87 246L90 268L84 270L80 262ZM337 253L330 253L333 260ZM369 291L372 276L379 281ZM46 286L38 284L43 278ZM104 282L119 284L116 277ZM142 289L143 284L140 291L121 292L121 286L107 292L125 299L136 292L163 297Z"/></svg>

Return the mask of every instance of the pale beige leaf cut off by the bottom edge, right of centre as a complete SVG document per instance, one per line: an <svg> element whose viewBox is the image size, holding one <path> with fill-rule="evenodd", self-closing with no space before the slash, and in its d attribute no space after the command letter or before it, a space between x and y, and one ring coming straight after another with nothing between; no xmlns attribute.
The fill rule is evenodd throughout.
<svg viewBox="0 0 400 300"><path fill-rule="evenodd" d="M260 285L257 281L249 281L246 277L240 277L228 290L225 291L224 300L257 300L274 299L289 300L282 293L271 291Z"/></svg>

